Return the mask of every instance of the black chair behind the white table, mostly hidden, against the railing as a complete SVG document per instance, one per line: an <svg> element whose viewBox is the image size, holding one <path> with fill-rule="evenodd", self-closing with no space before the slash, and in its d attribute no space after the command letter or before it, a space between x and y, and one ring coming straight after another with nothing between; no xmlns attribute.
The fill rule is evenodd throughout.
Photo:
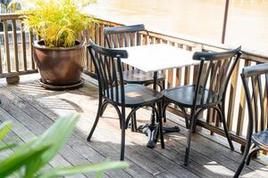
<svg viewBox="0 0 268 178"><path fill-rule="evenodd" d="M105 28L105 43L109 48L128 47L141 44L141 32L148 32L143 24L121 26L121 27L109 27ZM131 68L129 65L125 65L123 69L123 80L125 84L139 84L139 85L152 85L154 83L153 72L144 72L140 69ZM157 78L157 85L161 90L164 89L164 75L159 74ZM103 115L107 105L104 105L101 116ZM165 117L164 117L165 121ZM131 119L131 130L136 131L137 122L136 114L133 114Z"/></svg>

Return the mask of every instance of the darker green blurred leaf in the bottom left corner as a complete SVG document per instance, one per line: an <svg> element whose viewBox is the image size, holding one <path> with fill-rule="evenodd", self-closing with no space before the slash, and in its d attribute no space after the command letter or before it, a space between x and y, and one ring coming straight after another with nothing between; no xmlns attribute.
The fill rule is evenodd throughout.
<svg viewBox="0 0 268 178"><path fill-rule="evenodd" d="M29 160L34 160L38 155L42 154L52 146L51 144L46 143L33 148L31 147L31 144L35 141L36 140L21 145L18 150L15 150L12 155L5 158L0 163L0 177L13 174L15 171L19 170L21 166L25 166Z"/></svg>

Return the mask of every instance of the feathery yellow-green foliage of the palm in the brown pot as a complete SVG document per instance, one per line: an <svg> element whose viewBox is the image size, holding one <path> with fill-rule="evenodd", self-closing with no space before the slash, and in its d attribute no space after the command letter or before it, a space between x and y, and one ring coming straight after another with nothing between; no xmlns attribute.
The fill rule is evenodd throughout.
<svg viewBox="0 0 268 178"><path fill-rule="evenodd" d="M93 19L81 8L96 0L29 0L24 23L44 40L46 46L71 47Z"/></svg>

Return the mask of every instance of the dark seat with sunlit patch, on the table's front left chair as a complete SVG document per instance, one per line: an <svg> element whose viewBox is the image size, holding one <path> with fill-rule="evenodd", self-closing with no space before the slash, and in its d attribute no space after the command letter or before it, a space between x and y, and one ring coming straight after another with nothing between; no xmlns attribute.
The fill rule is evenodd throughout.
<svg viewBox="0 0 268 178"><path fill-rule="evenodd" d="M144 85L128 84L125 85L125 105L128 108L144 105L150 102L155 102L162 99L162 93L159 93ZM120 90L120 88L119 88ZM115 93L115 88L113 88ZM116 100L115 94L113 99L110 97L109 100L115 101L118 105L121 105L121 96L118 96Z"/></svg>

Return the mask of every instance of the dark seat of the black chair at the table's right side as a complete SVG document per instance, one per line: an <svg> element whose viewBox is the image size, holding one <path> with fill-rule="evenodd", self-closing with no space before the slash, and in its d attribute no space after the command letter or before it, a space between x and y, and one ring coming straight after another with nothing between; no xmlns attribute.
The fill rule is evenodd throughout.
<svg viewBox="0 0 268 178"><path fill-rule="evenodd" d="M178 86L171 89L163 90L163 97L168 100L177 103L178 105L190 108L193 105L193 100L195 96L195 85L184 85ZM201 100L201 94L197 96L197 108L205 107L206 105L214 104L214 98L217 96L214 92L205 89L204 99ZM209 100L207 101L209 96ZM202 101L202 103L201 103Z"/></svg>

